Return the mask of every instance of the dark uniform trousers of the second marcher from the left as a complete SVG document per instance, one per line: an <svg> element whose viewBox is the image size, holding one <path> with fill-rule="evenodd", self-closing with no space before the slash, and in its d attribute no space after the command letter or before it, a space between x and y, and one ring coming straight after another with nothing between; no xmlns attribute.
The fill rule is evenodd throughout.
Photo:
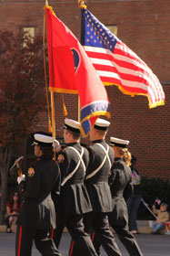
<svg viewBox="0 0 170 256"><path fill-rule="evenodd" d="M82 215L71 215L68 217L63 216L62 219L58 219L57 221L59 223L60 229L57 229L56 222L56 229L54 233L54 241L56 245L58 244L58 241L61 239L61 231L64 229L64 227L66 227L72 237L72 240L74 240L76 244L79 256L97 256L97 253L95 251L94 245L92 243L92 240L90 239L89 234L85 233L85 226ZM59 239L57 239L58 235Z"/></svg>

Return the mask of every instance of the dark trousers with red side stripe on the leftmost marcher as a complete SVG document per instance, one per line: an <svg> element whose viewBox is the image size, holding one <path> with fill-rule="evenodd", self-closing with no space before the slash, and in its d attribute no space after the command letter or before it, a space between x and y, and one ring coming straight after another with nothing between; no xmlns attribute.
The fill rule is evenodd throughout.
<svg viewBox="0 0 170 256"><path fill-rule="evenodd" d="M62 254L55 247L54 240L51 238L49 229L30 229L18 226L16 230L15 255L31 256L33 240L35 247L43 256L61 256Z"/></svg>

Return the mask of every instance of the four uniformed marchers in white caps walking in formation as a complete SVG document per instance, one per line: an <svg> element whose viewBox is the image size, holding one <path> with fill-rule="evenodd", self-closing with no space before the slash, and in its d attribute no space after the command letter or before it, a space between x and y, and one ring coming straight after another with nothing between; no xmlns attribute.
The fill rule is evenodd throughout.
<svg viewBox="0 0 170 256"><path fill-rule="evenodd" d="M24 197L17 218L16 256L32 255L35 247L44 256L59 251L63 230L71 243L69 256L121 256L113 232L129 255L142 256L128 229L125 201L133 195L129 167L129 141L110 138L105 143L109 122L98 118L89 133L91 144L82 146L80 123L65 119L65 147L48 133L34 133L36 160L27 170L21 159L10 169Z"/></svg>

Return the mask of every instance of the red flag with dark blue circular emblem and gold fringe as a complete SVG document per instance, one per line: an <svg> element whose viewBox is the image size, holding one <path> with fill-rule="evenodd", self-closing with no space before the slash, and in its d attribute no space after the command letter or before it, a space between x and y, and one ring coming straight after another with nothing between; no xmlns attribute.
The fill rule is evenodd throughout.
<svg viewBox="0 0 170 256"><path fill-rule="evenodd" d="M105 87L74 34L45 7L50 91L78 93L81 132L87 135L98 115L110 116Z"/></svg>

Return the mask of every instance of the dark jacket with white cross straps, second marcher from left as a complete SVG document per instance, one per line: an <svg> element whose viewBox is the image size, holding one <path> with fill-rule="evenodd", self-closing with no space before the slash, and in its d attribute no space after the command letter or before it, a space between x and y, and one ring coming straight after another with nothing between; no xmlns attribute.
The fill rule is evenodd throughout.
<svg viewBox="0 0 170 256"><path fill-rule="evenodd" d="M61 170L61 182L65 181L65 177L69 176L78 165L80 156L77 155L75 150L81 155L82 148L84 148L83 161L85 163L85 169L89 162L88 151L85 147L82 147L79 143L66 144L65 149L60 151L57 155L57 163ZM75 174L69 178L64 186L61 186L60 203L62 211L65 216L83 214L92 211L90 198L86 191L84 184L85 169L80 161L80 165Z"/></svg>

